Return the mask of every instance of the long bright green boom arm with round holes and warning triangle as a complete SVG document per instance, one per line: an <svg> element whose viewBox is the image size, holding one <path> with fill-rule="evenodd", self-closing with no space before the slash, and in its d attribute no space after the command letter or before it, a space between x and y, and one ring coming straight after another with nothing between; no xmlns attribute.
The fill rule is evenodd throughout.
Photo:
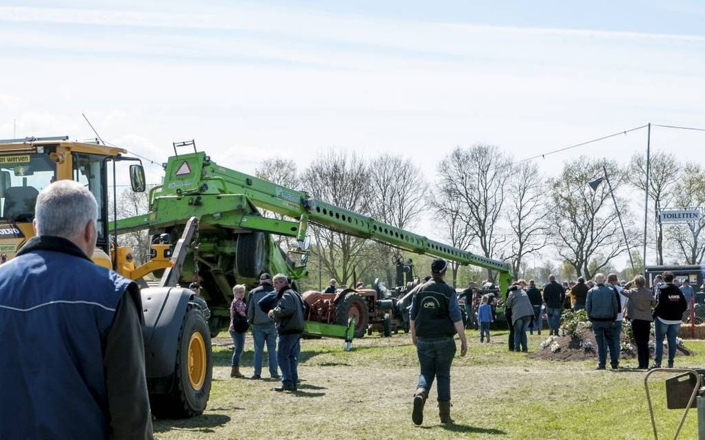
<svg viewBox="0 0 705 440"><path fill-rule="evenodd" d="M150 191L150 212L118 220L118 231L174 225L197 215L202 224L236 225L296 237L302 246L309 222L355 237L374 239L405 251L446 258L499 272L500 287L511 279L510 265L427 239L379 222L366 215L338 208L319 199L243 172L223 168L203 152L172 156L164 184ZM298 221L263 218L257 208ZM111 225L112 228L112 225Z"/></svg>

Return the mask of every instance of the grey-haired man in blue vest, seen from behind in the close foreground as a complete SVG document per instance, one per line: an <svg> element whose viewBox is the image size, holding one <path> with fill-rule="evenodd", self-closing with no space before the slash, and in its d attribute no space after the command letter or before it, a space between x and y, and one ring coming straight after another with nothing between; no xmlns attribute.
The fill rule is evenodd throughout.
<svg viewBox="0 0 705 440"><path fill-rule="evenodd" d="M90 259L97 213L82 184L50 184L0 268L0 439L152 439L140 292Z"/></svg>

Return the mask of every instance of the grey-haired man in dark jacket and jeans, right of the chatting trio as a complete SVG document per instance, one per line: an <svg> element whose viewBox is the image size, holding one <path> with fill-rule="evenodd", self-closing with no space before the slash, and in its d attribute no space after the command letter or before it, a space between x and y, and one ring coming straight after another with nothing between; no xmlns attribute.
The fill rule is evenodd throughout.
<svg viewBox="0 0 705 440"><path fill-rule="evenodd" d="M296 391L298 382L298 363L301 351L301 334L304 331L304 301L291 289L286 275L274 275L274 289L277 292L276 307L269 310L269 318L276 320L276 332L279 334L279 349L276 358L281 369L281 386L274 391Z"/></svg>

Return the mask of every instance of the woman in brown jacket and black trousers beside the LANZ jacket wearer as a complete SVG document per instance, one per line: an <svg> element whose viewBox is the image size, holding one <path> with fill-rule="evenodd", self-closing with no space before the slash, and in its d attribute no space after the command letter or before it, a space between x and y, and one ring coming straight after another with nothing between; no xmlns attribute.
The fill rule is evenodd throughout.
<svg viewBox="0 0 705 440"><path fill-rule="evenodd" d="M635 289L630 289L632 286ZM651 332L651 322L654 321L651 309L656 306L656 299L654 299L654 294L646 289L646 279L642 275L637 275L628 282L625 289L622 290L622 294L629 298L625 318L632 321L639 370L646 370L649 368L649 333Z"/></svg>

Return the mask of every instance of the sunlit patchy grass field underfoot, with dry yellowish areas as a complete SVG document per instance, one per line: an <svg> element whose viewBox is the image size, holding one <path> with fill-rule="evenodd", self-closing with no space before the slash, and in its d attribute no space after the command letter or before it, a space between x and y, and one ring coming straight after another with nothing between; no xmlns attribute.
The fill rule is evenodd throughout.
<svg viewBox="0 0 705 440"><path fill-rule="evenodd" d="M505 348L506 332L479 344L467 332L470 350L452 370L451 414L439 423L436 389L424 424L412 424L411 401L418 375L410 337L364 337L343 351L334 339L302 341L298 395L271 391L271 380L231 379L231 346L214 348L209 406L191 420L157 420L158 439L653 439L644 394L644 372L594 371L595 362L527 359ZM545 335L529 337L537 351ZM705 365L705 341L686 341L698 353L676 358L678 367ZM459 350L458 350L459 352ZM252 375L252 339L243 361ZM266 366L263 369L266 375ZM652 375L654 376L654 375ZM667 410L663 379L653 377L659 437L673 438L682 410ZM697 417L688 415L681 439L697 438Z"/></svg>

